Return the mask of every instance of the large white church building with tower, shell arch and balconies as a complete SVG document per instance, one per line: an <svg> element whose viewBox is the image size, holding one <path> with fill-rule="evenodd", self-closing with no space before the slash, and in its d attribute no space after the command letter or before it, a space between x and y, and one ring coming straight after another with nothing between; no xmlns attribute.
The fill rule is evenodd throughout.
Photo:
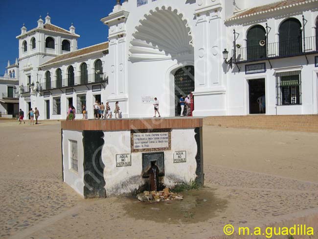
<svg viewBox="0 0 318 239"><path fill-rule="evenodd" d="M109 2L109 1L108 1ZM106 4L106 3L105 3ZM119 102L124 118L318 114L318 0L125 0L101 21L108 41L77 49L41 18L19 40L20 108L66 119L68 105ZM101 16L102 17L102 16ZM98 21L98 20L96 20ZM53 22L53 21L52 21ZM85 32L83 33L85 34Z"/></svg>

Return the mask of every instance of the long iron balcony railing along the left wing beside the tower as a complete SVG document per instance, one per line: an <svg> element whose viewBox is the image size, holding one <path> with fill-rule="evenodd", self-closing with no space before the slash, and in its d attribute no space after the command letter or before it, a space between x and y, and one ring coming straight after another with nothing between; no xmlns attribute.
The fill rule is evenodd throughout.
<svg viewBox="0 0 318 239"><path fill-rule="evenodd" d="M89 74L77 77L70 77L62 80L53 80L48 82L39 83L38 90L39 91L47 91L53 89L60 89L64 87L74 87L80 85L88 85L93 83L104 82L103 79L104 74Z"/></svg>

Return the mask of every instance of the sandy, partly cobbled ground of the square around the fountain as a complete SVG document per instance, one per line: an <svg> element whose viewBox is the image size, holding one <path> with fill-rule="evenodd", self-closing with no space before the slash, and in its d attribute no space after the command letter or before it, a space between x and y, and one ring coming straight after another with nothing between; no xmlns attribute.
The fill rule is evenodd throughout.
<svg viewBox="0 0 318 239"><path fill-rule="evenodd" d="M318 134L204 126L205 188L164 204L79 197L62 182L57 121L0 120L0 136L0 238L208 239L228 223L318 234Z"/></svg>

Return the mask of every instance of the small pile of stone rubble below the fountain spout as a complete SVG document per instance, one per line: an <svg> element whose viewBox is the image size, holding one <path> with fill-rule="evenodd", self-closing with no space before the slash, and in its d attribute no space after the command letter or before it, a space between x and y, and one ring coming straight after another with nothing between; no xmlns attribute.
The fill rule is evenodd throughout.
<svg viewBox="0 0 318 239"><path fill-rule="evenodd" d="M144 191L137 195L139 201L142 202L160 202L169 200L182 200L183 196L171 192L168 188L163 191Z"/></svg>

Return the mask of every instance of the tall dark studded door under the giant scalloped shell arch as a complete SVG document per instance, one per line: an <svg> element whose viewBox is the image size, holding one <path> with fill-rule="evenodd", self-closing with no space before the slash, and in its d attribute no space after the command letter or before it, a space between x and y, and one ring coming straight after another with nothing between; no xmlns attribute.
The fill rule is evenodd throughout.
<svg viewBox="0 0 318 239"><path fill-rule="evenodd" d="M181 114L180 98L191 92L194 92L194 67L185 66L175 73L175 116ZM183 115L186 115L186 107L184 111Z"/></svg>

